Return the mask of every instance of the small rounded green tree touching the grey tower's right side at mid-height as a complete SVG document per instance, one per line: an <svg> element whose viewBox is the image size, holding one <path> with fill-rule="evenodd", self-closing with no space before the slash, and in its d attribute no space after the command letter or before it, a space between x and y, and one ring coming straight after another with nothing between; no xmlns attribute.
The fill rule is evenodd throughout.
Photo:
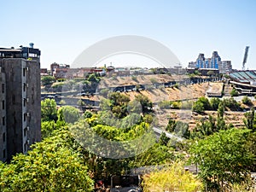
<svg viewBox="0 0 256 192"><path fill-rule="evenodd" d="M41 119L42 121L57 120L57 104L54 99L41 101Z"/></svg>

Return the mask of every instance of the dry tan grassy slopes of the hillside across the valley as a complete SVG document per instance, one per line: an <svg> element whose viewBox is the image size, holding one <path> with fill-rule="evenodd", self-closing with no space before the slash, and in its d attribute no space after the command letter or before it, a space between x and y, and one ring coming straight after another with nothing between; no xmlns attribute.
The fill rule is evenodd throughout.
<svg viewBox="0 0 256 192"><path fill-rule="evenodd" d="M166 74L161 75L141 75L136 76L136 78L132 77L111 77L104 79L101 82L100 87L111 87L111 86L119 86L119 85L127 85L127 84L152 84L155 82L169 82L174 79L177 79L175 76L170 76ZM130 96L131 100L133 100L138 95L147 96L152 102L157 103L161 101L177 101L184 99L197 99L201 96L206 96L206 92L211 90L211 92L219 92L222 90L223 83L202 83L202 84L188 84L182 85L178 88L165 88L161 87L160 89L152 89L152 90L140 90L140 91L130 91L123 92L126 96ZM102 96L92 96L91 100L101 100ZM207 119L208 115L212 114L213 117L217 117L216 111L207 111L206 115L200 115L197 113L192 113L191 110L174 110L174 109L160 109L154 108L154 116L157 125L162 128L165 128L168 119L177 119L184 122L189 123L189 128L195 128L195 125L201 119ZM225 119L227 123L232 123L236 127L243 126L243 118L244 113L242 112L225 112Z"/></svg>

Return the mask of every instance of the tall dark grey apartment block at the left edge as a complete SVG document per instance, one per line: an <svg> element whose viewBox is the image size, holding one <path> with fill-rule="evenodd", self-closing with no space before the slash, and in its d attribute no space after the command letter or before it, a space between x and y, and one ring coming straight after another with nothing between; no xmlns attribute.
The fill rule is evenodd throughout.
<svg viewBox="0 0 256 192"><path fill-rule="evenodd" d="M0 160L41 140L40 50L0 48Z"/></svg>

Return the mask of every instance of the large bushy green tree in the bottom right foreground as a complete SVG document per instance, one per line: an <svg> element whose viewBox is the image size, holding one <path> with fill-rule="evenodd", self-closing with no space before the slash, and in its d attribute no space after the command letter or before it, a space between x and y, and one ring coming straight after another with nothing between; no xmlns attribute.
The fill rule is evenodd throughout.
<svg viewBox="0 0 256 192"><path fill-rule="evenodd" d="M249 130L219 131L192 144L190 160L198 164L199 176L208 189L221 189L224 183L241 183L249 174L255 155L248 144Z"/></svg>

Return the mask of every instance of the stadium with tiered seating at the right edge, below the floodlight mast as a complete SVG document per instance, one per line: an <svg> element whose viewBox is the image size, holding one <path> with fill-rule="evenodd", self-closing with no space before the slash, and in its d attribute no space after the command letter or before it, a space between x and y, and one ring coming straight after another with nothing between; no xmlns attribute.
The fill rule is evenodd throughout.
<svg viewBox="0 0 256 192"><path fill-rule="evenodd" d="M256 95L256 71L236 71L229 74L230 84L242 95Z"/></svg>

